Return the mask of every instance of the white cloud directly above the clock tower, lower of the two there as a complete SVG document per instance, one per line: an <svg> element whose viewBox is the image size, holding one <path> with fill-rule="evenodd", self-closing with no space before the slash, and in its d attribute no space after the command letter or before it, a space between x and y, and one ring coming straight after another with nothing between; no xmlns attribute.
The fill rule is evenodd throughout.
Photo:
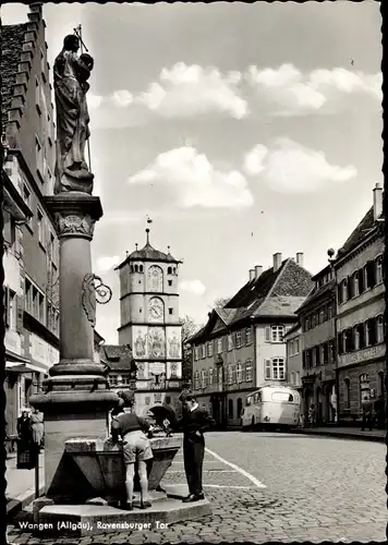
<svg viewBox="0 0 388 545"><path fill-rule="evenodd" d="M247 181L240 171L217 170L194 147L184 146L162 153L129 180L130 184L154 182L171 186L181 208L242 209L253 205Z"/></svg>

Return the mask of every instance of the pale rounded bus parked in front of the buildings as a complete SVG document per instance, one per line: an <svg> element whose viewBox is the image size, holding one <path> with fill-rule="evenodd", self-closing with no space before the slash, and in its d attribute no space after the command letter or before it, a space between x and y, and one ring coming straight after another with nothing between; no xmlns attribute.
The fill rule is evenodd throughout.
<svg viewBox="0 0 388 545"><path fill-rule="evenodd" d="M243 429L296 427L301 396L292 386L268 384L246 396L241 413Z"/></svg>

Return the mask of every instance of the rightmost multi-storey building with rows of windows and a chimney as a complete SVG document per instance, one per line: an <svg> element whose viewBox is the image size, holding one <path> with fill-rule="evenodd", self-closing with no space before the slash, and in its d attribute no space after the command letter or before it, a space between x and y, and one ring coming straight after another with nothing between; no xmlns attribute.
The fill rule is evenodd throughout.
<svg viewBox="0 0 388 545"><path fill-rule="evenodd" d="M387 400L381 186L376 184L373 193L372 208L335 262L341 421L360 419L364 398Z"/></svg>

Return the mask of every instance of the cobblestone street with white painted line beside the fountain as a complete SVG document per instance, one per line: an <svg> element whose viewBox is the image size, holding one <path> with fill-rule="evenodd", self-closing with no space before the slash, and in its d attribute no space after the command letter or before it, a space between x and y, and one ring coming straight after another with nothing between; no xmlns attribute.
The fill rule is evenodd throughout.
<svg viewBox="0 0 388 545"><path fill-rule="evenodd" d="M230 432L208 434L206 446L211 516L167 530L63 537L56 544L386 541L385 445ZM180 453L163 484L184 483ZM33 536L16 523L9 526L9 543L49 544L52 538Z"/></svg>

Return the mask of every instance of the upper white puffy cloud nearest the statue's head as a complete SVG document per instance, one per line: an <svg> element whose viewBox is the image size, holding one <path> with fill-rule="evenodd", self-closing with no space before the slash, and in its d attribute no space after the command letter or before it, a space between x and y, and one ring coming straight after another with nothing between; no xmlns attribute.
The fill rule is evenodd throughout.
<svg viewBox="0 0 388 545"><path fill-rule="evenodd" d="M239 72L223 75L216 68L178 62L163 68L159 81L149 84L136 100L166 118L217 111L241 119L247 114L247 104L239 96L240 81Z"/></svg>

